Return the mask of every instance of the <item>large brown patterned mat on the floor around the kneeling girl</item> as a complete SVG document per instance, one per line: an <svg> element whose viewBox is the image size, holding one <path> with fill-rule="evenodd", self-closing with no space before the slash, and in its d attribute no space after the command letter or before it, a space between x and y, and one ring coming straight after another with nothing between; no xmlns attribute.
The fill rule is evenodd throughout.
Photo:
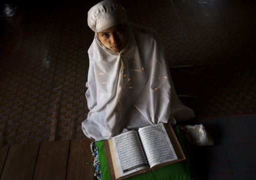
<svg viewBox="0 0 256 180"><path fill-rule="evenodd" d="M87 12L97 2L1 6L0 145L85 137ZM121 3L129 22L159 33L177 94L196 115L256 112L255 2Z"/></svg>

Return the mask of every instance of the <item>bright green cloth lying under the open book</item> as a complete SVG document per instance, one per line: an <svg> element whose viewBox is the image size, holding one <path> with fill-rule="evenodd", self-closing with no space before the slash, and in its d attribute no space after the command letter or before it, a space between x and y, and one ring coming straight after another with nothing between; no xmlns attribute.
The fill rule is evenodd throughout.
<svg viewBox="0 0 256 180"><path fill-rule="evenodd" d="M127 177L125 179L129 180L142 180L142 179L173 179L173 180L187 180L187 179L193 179L195 177L195 174L191 168L189 157L187 154L187 150L185 149L184 139L183 135L180 132L179 126L174 126L173 130L176 134L176 137L179 141L179 144L186 156L185 160L182 160L180 162L176 162L174 164L170 164L168 166L146 172L140 175ZM109 180L110 174L108 170L108 164L107 164L107 157L105 153L104 148L104 142L99 141L96 143L98 147L98 153L99 153L99 163L100 163L100 170L101 170L101 176L102 180Z"/></svg>

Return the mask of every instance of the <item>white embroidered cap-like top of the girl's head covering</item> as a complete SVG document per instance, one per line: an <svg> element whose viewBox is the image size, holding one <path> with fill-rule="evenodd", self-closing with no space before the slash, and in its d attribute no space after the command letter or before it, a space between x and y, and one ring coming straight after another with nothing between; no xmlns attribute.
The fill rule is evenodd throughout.
<svg viewBox="0 0 256 180"><path fill-rule="evenodd" d="M106 0L93 6L88 12L88 26L94 32L125 24L127 14L123 6L114 0Z"/></svg>

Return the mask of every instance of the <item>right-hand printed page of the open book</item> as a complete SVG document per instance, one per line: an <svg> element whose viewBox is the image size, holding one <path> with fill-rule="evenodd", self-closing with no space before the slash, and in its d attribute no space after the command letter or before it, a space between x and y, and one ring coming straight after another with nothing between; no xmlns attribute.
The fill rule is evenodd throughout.
<svg viewBox="0 0 256 180"><path fill-rule="evenodd" d="M162 123L140 128L139 134L150 167L178 159Z"/></svg>

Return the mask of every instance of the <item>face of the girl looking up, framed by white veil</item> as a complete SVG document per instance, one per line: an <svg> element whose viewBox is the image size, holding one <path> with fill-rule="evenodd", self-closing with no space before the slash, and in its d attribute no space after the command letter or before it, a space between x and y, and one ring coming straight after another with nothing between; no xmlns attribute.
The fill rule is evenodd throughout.
<svg viewBox="0 0 256 180"><path fill-rule="evenodd" d="M100 42L113 52L120 52L127 40L125 24L116 25L98 33Z"/></svg>

